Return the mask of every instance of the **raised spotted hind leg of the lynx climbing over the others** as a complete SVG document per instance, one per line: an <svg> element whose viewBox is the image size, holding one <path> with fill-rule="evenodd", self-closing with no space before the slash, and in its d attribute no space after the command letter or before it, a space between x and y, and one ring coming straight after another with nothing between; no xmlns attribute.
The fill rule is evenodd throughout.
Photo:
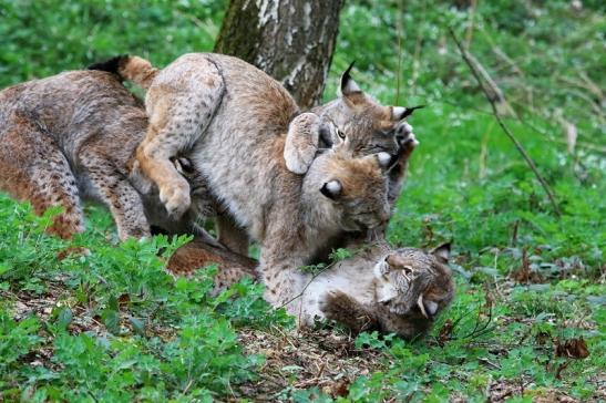
<svg viewBox="0 0 606 403"><path fill-rule="evenodd" d="M191 197L187 180L171 158L192 147L206 131L224 93L216 65L199 56L170 65L147 91L150 125L136 158L143 173L157 185L160 199L172 216L181 217L189 208Z"/></svg>

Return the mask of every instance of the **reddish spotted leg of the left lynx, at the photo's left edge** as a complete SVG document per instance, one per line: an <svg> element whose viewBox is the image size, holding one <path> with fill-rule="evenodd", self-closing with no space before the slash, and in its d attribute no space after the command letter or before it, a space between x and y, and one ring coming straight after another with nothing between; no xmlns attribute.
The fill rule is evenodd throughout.
<svg viewBox="0 0 606 403"><path fill-rule="evenodd" d="M3 136L0 147L0 188L29 200L37 215L63 207L47 232L63 239L84 230L75 177L64 155L35 125L22 122Z"/></svg>

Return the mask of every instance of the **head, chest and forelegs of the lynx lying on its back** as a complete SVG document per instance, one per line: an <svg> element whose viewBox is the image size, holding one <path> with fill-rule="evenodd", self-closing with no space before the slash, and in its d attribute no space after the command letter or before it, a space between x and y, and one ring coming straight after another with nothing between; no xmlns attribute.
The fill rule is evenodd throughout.
<svg viewBox="0 0 606 403"><path fill-rule="evenodd" d="M302 311L308 320L315 316L326 317L355 331L380 330L407 339L417 338L430 330L435 316L454 297L452 275L446 266L449 256L448 244L430 252L399 248L376 264L373 276L367 266L371 264L369 257L356 269L347 267L345 260L320 285L316 281L323 273L314 279L310 285L314 291L304 293ZM370 257L377 256L371 252ZM347 277L349 282L343 282L342 278ZM370 286L366 286L369 282ZM322 290L319 286L326 288ZM367 287L374 292L362 292ZM308 297L308 292L315 296Z"/></svg>

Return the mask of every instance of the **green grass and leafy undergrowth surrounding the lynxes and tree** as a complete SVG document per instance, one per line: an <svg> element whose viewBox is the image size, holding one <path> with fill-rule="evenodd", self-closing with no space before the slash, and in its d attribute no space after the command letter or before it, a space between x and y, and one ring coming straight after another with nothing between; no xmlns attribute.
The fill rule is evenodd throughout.
<svg viewBox="0 0 606 403"><path fill-rule="evenodd" d="M86 232L62 241L43 235L53 211L38 218L0 196L1 399L255 400L249 389L277 370L274 400L605 400L604 6L450 3L399 10L390 1L348 2L326 92L332 97L339 73L356 60L359 84L392 103L402 27L400 104L429 106L411 118L421 145L389 236L397 246L454 242L456 298L430 338L407 343L363 333L348 345L368 358L368 373L342 373L339 393L320 382L326 375L305 383L314 376L299 379L300 356L277 364L271 358L271 349L283 352L280 342L298 341L259 286L213 297L212 275L175 281L163 271L163 259L186 239L117 245L109 214L88 207ZM0 0L0 85L115 53L163 65L208 51L226 2L136 4ZM469 40L504 91L517 114L505 122L555 190L562 216L487 113L446 27ZM572 154L564 121L578 131ZM59 260L70 246L91 255ZM521 268L540 281L518 283L512 273ZM238 339L248 332L277 341L251 350ZM573 339L584 339L589 355L556 356L556 345ZM312 353L328 353L322 343Z"/></svg>

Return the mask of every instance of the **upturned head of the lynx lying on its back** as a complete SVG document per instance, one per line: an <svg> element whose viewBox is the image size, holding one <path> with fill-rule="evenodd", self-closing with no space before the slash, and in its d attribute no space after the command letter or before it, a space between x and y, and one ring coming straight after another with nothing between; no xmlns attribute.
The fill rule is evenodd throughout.
<svg viewBox="0 0 606 403"><path fill-rule="evenodd" d="M400 320L428 322L452 300L450 244L425 252L401 248L374 267L376 299Z"/></svg>

